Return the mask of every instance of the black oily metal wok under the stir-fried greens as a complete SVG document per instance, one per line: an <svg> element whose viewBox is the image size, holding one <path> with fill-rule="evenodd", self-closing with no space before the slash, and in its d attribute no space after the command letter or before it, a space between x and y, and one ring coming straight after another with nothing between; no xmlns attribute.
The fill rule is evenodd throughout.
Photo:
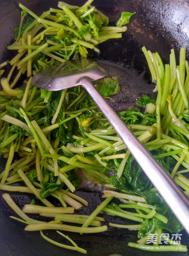
<svg viewBox="0 0 189 256"><path fill-rule="evenodd" d="M37 15L49 7L57 7L56 0L0 0L0 63L9 59L10 52L6 50L8 44L13 42L13 28L19 25L20 9L18 3L22 3ZM82 5L85 1L69 0L73 5ZM152 91L149 83L149 73L146 72L147 64L141 51L142 46L152 52L157 51L165 63L169 61L170 49L175 49L176 58L179 58L180 46L189 45L189 3L187 0L95 0L93 5L103 11L110 20L110 24L115 24L122 11L136 12L128 24L127 33L122 39L110 40L99 45L99 59L108 60L120 64L120 67L134 74L131 78L135 85L141 87L147 85L145 90ZM90 53L93 55L94 53ZM189 52L187 51L187 57ZM137 90L135 90L137 94ZM133 92L131 93L133 94ZM116 110L130 106L137 96L115 98ZM4 159L1 161L1 170L5 165ZM2 194L3 192L0 192ZM100 193L77 191L78 195L89 201L89 207L83 208L83 212L88 214L100 204ZM13 193L12 197L20 208L29 203L29 195ZM83 255L77 252L68 251L44 241L39 232L26 232L24 225L11 220L10 215L14 215L0 199L0 254L2 256L22 256L22 255ZM106 221L111 222L112 217L106 216ZM120 220L121 221L121 220ZM120 222L119 222L120 223ZM55 232L48 232L52 239L56 239ZM80 246L87 249L90 256L108 256L112 253L120 255L151 255L145 251L140 251L127 246L129 241L137 240L137 232L126 229L109 229L104 234L76 235L69 236ZM58 238L57 238L58 239ZM181 243L188 245L188 235L182 232ZM157 255L178 255L178 253L165 252L155 253ZM182 253L183 256L189 253Z"/></svg>

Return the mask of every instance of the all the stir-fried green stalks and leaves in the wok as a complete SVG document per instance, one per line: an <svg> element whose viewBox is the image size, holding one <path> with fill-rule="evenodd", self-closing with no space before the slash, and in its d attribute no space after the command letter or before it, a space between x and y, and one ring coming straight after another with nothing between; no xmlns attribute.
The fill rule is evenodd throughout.
<svg viewBox="0 0 189 256"><path fill-rule="evenodd" d="M18 53L0 65L12 67L9 75L1 80L0 154L7 158L7 163L0 174L0 189L34 194L43 206L32 201L20 210L9 194L3 198L20 216L12 217L27 225L25 230L40 230L44 239L57 246L87 253L61 232L57 231L72 246L51 240L42 230L103 232L107 226L97 216L103 212L127 219L126 225L111 223L110 226L138 230L138 244L129 243L129 246L151 250L145 245L149 233L159 236L163 230L179 233L183 227L94 101L81 86L56 92L32 86L32 74L38 70L70 57L85 58L87 49L98 51L97 44L120 38L120 32L126 31L122 26L133 13L124 12L117 27L107 27L108 18L91 3L77 7L59 2L60 9L50 9L40 17L20 4L20 27L15 28L15 42L8 47ZM27 14L32 19L24 23ZM141 109L129 109L118 114L189 195L189 180L182 175L189 170L189 66L185 51L181 48L180 63L176 66L172 50L170 65L164 68L160 56L143 47L152 81L157 81L157 100L144 95L137 102L139 107L145 107L143 113ZM25 88L14 88L25 73L28 77ZM111 77L95 82L95 87L104 97L119 91L117 79ZM80 172L106 188L103 193L106 199L90 216L73 214L88 205L73 193L79 187ZM49 196L59 200L62 206L55 207ZM114 198L120 203L116 204ZM29 218L26 213L40 214L47 221ZM49 222L49 218L53 220ZM180 246L180 251L187 251L186 246Z"/></svg>

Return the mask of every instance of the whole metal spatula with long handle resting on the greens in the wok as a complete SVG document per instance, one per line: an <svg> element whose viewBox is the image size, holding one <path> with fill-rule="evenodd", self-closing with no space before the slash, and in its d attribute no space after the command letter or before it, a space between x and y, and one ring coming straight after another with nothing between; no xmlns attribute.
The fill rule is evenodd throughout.
<svg viewBox="0 0 189 256"><path fill-rule="evenodd" d="M79 59L37 72L32 84L52 91L82 85L189 234L189 199L93 86L105 73L95 61Z"/></svg>

